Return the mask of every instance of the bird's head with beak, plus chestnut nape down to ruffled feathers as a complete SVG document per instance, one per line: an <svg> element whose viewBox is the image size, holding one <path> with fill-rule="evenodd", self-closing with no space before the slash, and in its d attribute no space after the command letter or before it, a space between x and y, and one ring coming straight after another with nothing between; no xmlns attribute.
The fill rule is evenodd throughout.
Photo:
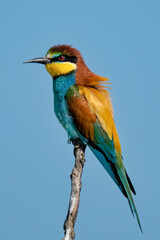
<svg viewBox="0 0 160 240"><path fill-rule="evenodd" d="M78 85L97 86L101 82L107 81L106 78L90 71L80 52L69 45L51 47L45 57L34 58L24 63L44 64L53 79L75 72L76 84Z"/></svg>

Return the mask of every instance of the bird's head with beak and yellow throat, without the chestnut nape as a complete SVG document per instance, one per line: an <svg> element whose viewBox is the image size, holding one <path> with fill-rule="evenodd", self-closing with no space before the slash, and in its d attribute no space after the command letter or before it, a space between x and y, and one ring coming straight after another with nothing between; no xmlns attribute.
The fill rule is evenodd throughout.
<svg viewBox="0 0 160 240"><path fill-rule="evenodd" d="M51 47L45 57L34 58L25 63L44 64L50 75L55 78L76 71L81 58L80 52L75 48L68 45L57 45Z"/></svg>

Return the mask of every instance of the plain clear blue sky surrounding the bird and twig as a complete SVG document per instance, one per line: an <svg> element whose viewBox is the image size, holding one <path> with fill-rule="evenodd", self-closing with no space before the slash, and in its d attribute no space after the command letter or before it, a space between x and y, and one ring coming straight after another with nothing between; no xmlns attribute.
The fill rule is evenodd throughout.
<svg viewBox="0 0 160 240"><path fill-rule="evenodd" d="M159 239L160 1L3 1L0 7L0 239L62 239L73 147L53 113L52 79L23 61L78 48L112 83L124 163L144 234L87 150L76 239Z"/></svg>

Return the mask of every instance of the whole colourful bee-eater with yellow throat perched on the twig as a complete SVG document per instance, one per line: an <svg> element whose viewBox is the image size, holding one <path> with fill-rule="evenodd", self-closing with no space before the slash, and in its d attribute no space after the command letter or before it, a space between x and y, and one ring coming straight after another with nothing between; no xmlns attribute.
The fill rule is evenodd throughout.
<svg viewBox="0 0 160 240"><path fill-rule="evenodd" d="M136 192L123 164L108 78L93 73L80 51L65 44L51 47L45 57L24 63L45 65L53 79L54 112L68 138L79 138L91 149L127 198L143 233L132 196Z"/></svg>

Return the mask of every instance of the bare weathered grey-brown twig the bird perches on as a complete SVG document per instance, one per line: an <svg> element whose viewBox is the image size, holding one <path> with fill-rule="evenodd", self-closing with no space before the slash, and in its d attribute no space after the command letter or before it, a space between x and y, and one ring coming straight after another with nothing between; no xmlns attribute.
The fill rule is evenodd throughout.
<svg viewBox="0 0 160 240"><path fill-rule="evenodd" d="M80 139L72 141L74 145L75 165L71 174L71 195L69 208L66 220L64 222L64 238L62 240L74 240L75 232L74 225L77 218L80 191L81 191L81 176L85 163L85 145Z"/></svg>

